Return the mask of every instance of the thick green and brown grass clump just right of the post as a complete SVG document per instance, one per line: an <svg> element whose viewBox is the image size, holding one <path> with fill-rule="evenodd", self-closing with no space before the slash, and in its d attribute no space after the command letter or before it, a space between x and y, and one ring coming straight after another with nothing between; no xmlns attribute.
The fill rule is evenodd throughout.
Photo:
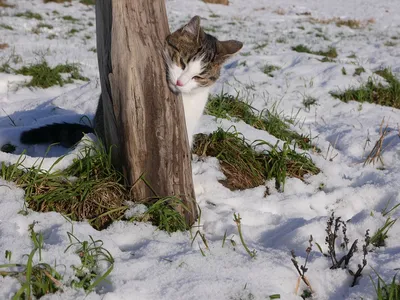
<svg viewBox="0 0 400 300"><path fill-rule="evenodd" d="M259 145L268 145L270 150L256 152L254 147ZM291 150L287 143L283 149L265 141L250 145L240 133L222 129L210 135L196 135L192 152L199 156L216 157L226 176L220 182L232 190L260 186L273 178L276 187L283 189L286 176L304 179L306 174L319 172L305 154Z"/></svg>

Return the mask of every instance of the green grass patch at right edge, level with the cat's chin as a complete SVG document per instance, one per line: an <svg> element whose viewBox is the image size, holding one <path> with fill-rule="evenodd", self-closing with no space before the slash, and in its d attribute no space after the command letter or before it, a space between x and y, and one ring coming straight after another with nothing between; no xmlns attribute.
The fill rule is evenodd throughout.
<svg viewBox="0 0 400 300"><path fill-rule="evenodd" d="M400 81L388 68L376 71L375 73L383 77L388 85L376 83L370 78L366 84L359 88L350 88L343 92L331 92L330 94L344 102L369 102L400 108Z"/></svg>

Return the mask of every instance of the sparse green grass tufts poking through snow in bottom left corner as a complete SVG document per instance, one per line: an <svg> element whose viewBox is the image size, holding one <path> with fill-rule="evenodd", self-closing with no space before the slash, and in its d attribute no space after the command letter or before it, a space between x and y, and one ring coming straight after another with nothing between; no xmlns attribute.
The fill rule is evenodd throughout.
<svg viewBox="0 0 400 300"><path fill-rule="evenodd" d="M56 270L58 266L55 263L54 266L51 266L42 260L44 238L41 233L35 232L35 224L30 224L28 228L33 250L29 255L25 255L27 262L0 265L0 276L14 277L21 284L21 288L17 290L12 299L39 299L42 296L63 291L64 286L83 289L89 293L106 280L112 272L114 259L110 252L103 247L103 241L94 240L91 236L89 236L89 241L80 241L68 232L70 245L64 252L74 249L75 254L81 260L81 265L70 266L74 271L75 278L70 282L63 282L63 276ZM34 259L35 257L37 259ZM6 259L11 261L11 251L6 251ZM34 264L33 262L36 260L39 262ZM99 271L100 262L103 266L104 262L108 264L108 269L103 273ZM66 267L64 266L64 268Z"/></svg>

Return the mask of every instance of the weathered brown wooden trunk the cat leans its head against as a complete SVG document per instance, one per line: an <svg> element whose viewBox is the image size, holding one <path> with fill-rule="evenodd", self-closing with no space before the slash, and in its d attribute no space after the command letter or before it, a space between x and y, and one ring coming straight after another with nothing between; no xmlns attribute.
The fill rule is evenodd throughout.
<svg viewBox="0 0 400 300"><path fill-rule="evenodd" d="M162 58L165 2L96 1L96 26L102 90L96 132L112 147L135 200L176 196L186 207L176 209L191 225L197 206L183 103L168 88Z"/></svg>

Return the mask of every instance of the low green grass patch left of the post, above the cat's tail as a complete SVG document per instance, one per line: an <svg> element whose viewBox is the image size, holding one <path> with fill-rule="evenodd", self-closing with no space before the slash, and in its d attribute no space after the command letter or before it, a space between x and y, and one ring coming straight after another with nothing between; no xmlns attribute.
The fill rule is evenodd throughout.
<svg viewBox="0 0 400 300"><path fill-rule="evenodd" d="M89 79L80 74L80 69L77 64L63 64L51 68L47 61L42 61L38 64L22 67L15 70L15 73L32 76L26 86L48 88L53 85L63 86L66 83L72 83L74 80L88 81ZM68 78L63 78L61 74L69 74Z"/></svg>

